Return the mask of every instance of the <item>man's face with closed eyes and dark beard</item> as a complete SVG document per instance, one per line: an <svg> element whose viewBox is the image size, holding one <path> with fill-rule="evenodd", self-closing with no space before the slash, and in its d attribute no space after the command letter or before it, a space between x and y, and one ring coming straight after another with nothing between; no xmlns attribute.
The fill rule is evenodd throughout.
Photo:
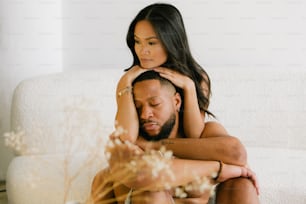
<svg viewBox="0 0 306 204"><path fill-rule="evenodd" d="M158 80L137 82L133 90L140 135L154 141L176 136L179 95Z"/></svg>

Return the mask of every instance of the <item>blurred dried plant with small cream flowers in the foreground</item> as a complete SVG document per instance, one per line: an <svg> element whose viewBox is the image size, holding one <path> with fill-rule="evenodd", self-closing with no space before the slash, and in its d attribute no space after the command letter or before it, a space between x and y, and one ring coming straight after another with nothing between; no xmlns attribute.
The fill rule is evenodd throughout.
<svg viewBox="0 0 306 204"><path fill-rule="evenodd" d="M100 130L101 122L99 119L93 116L92 112L86 111L86 106L80 106L80 104L76 104L75 106L68 106L64 113L65 117L62 126L64 127L64 142L65 145L67 145L67 148L66 152L63 154L61 167L54 167L52 166L52 163L49 163L49 161L39 161L43 162L41 164L44 166L44 168L56 169L59 171L59 175L62 177L60 180L63 181L64 185L62 203L96 204L112 203L116 201L124 201L126 199L126 197L129 195L129 192L122 194L119 197L102 200L100 202L94 202L94 199L90 196L85 200L76 199L75 201L73 195L69 196L71 193L71 188L73 188L74 185L79 185L75 181L78 179L78 177L81 176L82 172L87 168L90 168L90 166L94 165L96 162L104 161L100 154L103 149L105 149L107 161L109 163L114 162L114 165L112 165L113 168L111 169L111 173L103 179L99 187L96 189L96 192L94 192L95 197L104 197L119 185L133 181L133 179L135 179L135 175L139 175L144 169L150 169L149 174L153 179L164 179L165 182L163 182L163 185L158 186L158 188L162 191L164 190L171 192L171 195L174 198L186 198L190 195L190 192L193 191L213 192L214 185L210 183L210 180L208 178L199 178L196 175L194 176L194 181L191 183L188 183L184 186L173 186L171 181L175 180L175 174L170 168L173 154L171 151L166 150L164 147L159 150L150 149L142 152L136 151L131 153L129 148L131 148L133 144L129 142L122 142L119 139L120 134L125 131L120 126L117 126L118 128L112 134L112 136L115 138L106 142L104 139L107 138L105 137L105 131L104 136L99 135L97 137L92 137L93 135L100 134L103 131ZM90 123L93 125L88 127L88 125L85 123ZM33 125L33 127L35 128L36 126ZM37 126L37 128L38 127L40 126ZM39 137L42 136L42 134L46 134L43 130L38 130L36 132L39 133L37 134ZM88 144L82 140L75 143L76 135L77 138L93 139ZM6 133L4 138L5 144L13 149L18 155L39 154L41 148L44 147L44 145L42 145L42 147L39 146L39 139L36 143L37 148L36 146L33 148L33 145L31 148L27 146L25 142L26 132L23 130ZM48 138L48 135L44 135L44 138ZM78 160L78 158L76 158L74 155L75 150L82 150L87 152L86 158L82 159L81 164L78 165L77 168L75 168L73 165L73 163ZM118 159L118 157L121 158L121 162L114 161L114 158ZM37 159L37 157L33 158ZM102 168L106 165L107 164L100 166ZM39 188L40 185L45 185L45 182L53 182L52 180L46 181L45 178L39 178L39 172L34 171L32 174L32 176L27 175L27 177L29 179L29 183L36 188ZM156 184L154 182L150 185L133 191L133 196L137 196L146 191L151 191L152 189L156 189ZM90 189L88 189L88 191L90 191ZM86 192L78 193L87 194Z"/></svg>

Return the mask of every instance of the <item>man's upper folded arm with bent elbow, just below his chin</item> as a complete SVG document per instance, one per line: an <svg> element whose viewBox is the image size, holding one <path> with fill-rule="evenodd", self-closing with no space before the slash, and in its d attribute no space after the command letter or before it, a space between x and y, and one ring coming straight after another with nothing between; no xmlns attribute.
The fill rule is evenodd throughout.
<svg viewBox="0 0 306 204"><path fill-rule="evenodd" d="M138 144L144 148L145 145L141 143ZM221 160L241 166L247 163L247 153L242 143L229 136L223 126L216 122L206 123L199 139L175 138L153 143L155 149L161 146L165 146L181 159Z"/></svg>

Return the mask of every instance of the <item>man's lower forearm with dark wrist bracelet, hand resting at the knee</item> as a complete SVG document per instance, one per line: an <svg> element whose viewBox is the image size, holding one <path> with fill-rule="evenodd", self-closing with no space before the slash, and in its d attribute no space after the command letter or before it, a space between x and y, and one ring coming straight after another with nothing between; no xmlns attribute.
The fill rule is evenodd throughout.
<svg viewBox="0 0 306 204"><path fill-rule="evenodd" d="M136 172L130 171L129 174L134 174L133 179L123 181L123 184L136 190L159 191L166 189L165 184L168 184L167 187L184 186L196 178L206 177L211 180L211 183L221 183L231 178L245 177L249 178L258 188L255 174L242 166L223 163L216 181L213 174L220 170L219 162L216 161L173 159L169 169L174 173L174 179L167 171L160 171L158 176L154 177L152 168L145 167Z"/></svg>

